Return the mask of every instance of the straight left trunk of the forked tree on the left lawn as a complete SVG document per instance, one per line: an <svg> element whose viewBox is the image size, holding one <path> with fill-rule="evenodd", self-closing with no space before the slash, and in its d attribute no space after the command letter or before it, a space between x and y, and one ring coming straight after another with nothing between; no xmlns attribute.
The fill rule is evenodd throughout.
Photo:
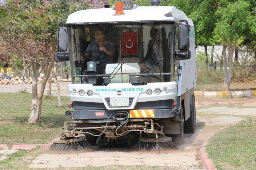
<svg viewBox="0 0 256 170"><path fill-rule="evenodd" d="M38 122L38 115L36 115L36 106L37 106L37 78L38 74L36 73L37 63L31 63L31 71L32 71L32 105L31 105L31 113L28 119L28 123L36 123Z"/></svg>

